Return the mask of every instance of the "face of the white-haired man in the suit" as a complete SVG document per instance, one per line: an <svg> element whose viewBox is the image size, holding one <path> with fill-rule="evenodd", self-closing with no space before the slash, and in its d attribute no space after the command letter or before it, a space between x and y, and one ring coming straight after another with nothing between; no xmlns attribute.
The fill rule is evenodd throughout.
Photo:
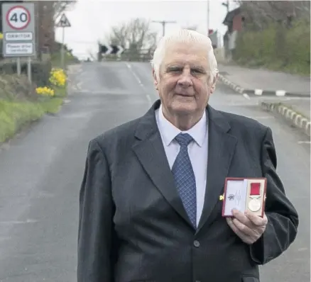
<svg viewBox="0 0 311 282"><path fill-rule="evenodd" d="M168 115L201 114L214 85L209 84L206 47L198 44L172 44L160 66L160 78L153 77Z"/></svg>

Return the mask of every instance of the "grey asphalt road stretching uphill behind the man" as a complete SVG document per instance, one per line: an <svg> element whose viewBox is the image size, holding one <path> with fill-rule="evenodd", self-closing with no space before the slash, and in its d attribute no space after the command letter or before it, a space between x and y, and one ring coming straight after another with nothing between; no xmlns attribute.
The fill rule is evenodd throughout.
<svg viewBox="0 0 311 282"><path fill-rule="evenodd" d="M143 115L157 98L143 63L85 63L70 74L57 115L0 151L0 281L76 281L78 196L92 137ZM300 213L298 238L261 269L261 281L310 281L310 144L305 135L219 84L214 108L247 115L273 130L278 173Z"/></svg>

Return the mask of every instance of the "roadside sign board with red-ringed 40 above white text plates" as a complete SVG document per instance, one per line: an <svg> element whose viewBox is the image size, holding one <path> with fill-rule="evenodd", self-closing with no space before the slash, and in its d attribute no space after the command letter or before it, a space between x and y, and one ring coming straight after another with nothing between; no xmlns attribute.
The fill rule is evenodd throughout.
<svg viewBox="0 0 311 282"><path fill-rule="evenodd" d="M33 3L2 4L4 57L36 55L35 7Z"/></svg>

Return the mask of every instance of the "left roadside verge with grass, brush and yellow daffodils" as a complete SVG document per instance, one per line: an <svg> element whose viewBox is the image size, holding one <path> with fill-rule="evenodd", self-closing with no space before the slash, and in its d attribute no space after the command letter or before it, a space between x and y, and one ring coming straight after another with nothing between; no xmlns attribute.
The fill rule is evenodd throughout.
<svg viewBox="0 0 311 282"><path fill-rule="evenodd" d="M48 83L42 86L30 83L24 74L0 75L0 143L43 115L58 113L66 96L67 74L60 67L50 69Z"/></svg>

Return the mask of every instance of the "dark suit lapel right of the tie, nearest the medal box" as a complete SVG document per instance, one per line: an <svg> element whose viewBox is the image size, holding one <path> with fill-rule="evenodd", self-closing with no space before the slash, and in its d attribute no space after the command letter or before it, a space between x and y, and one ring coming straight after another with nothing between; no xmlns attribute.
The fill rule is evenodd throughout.
<svg viewBox="0 0 311 282"><path fill-rule="evenodd" d="M210 106L207 107L207 112L209 116L207 185L197 232L207 222L214 206L219 201L237 142L236 137L228 133L230 125L222 113Z"/></svg>

